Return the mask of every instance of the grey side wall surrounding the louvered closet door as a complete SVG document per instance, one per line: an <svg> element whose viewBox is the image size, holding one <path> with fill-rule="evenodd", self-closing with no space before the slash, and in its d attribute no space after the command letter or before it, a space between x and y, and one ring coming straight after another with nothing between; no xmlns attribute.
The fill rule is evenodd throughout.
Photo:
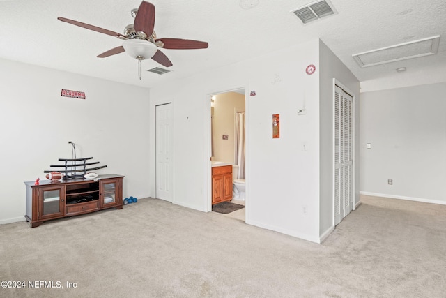
<svg viewBox="0 0 446 298"><path fill-rule="evenodd" d="M341 83L341 87L348 89L353 96L353 110L354 110L354 124L353 134L355 137L355 144L353 144L354 150L354 202L353 206L360 200L360 184L359 184L359 127L360 124L360 82L351 73L348 68L342 64L342 62L333 54L333 52L321 41L320 43L320 142L321 142L321 184L320 184L320 212L321 212L321 225L319 232L321 237L327 236L334 228L334 210L333 210L333 173L334 173L334 89L333 79L335 78L338 83Z"/></svg>

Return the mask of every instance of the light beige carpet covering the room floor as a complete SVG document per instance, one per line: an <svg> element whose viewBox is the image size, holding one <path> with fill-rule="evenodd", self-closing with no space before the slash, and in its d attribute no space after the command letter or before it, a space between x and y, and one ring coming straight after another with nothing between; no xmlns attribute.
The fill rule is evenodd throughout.
<svg viewBox="0 0 446 298"><path fill-rule="evenodd" d="M0 297L446 297L446 206L362 202L323 244L151 198L1 225Z"/></svg>

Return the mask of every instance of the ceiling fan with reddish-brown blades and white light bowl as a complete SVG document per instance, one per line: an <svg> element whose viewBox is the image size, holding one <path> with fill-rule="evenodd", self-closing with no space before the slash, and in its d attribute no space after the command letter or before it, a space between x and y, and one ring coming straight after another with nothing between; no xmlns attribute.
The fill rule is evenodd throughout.
<svg viewBox="0 0 446 298"><path fill-rule="evenodd" d="M58 17L57 19L124 40L123 45L99 54L99 58L127 52L130 56L138 59L139 62L144 59L153 59L159 64L169 67L172 66L172 62L158 48L188 50L205 49L208 47L208 43L198 40L156 38L155 31L153 31L155 25L155 6L150 2L142 1L139 8L132 10L132 16L134 17L134 22L125 27L124 34L66 19L65 17ZM141 76L139 78L141 79Z"/></svg>

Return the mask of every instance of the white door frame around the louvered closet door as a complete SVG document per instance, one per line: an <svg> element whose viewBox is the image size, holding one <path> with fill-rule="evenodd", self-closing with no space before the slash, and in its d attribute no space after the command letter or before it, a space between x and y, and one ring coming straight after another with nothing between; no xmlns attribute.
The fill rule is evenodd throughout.
<svg viewBox="0 0 446 298"><path fill-rule="evenodd" d="M335 223L335 209L334 209L334 206L335 206L335 203L334 203L334 200L335 200L335 193L334 193L334 191L335 191L335 174L336 174L336 167L335 167L335 165L334 165L334 158L335 158L335 156L334 156L334 144L335 144L335 141L336 140L334 140L334 137L335 137L335 129L336 129L336 126L335 126L335 123L334 123L334 121L335 121L335 109L334 109L334 100L335 100L335 96L336 96L336 94L335 94L335 92L336 92L336 87L339 87L339 88L341 88L342 90L344 90L348 95L350 95L351 97L352 97L352 119L351 119L351 121L352 121L352 158L353 158L353 163L352 163L352 171L351 171L351 175L352 175L352 185L351 185L351 192L352 192L352 211L355 211L355 209L356 209L356 198L355 198L355 193L356 193L356 188L355 188L355 186L356 186L356 163L357 163L357 161L356 161L356 158L357 158L357 156L356 156L356 154L355 154L355 151L356 151L356 130L357 130L357 127L356 127L356 125L355 125L355 123L356 123L356 117L357 117L357 115L356 115L356 112L355 112L355 105L356 105L356 98L357 98L357 96L355 95L355 93L353 92L353 91L351 91L351 89L349 89L348 87L346 87L346 85L344 85L344 84L342 84L341 82L339 82L339 80L337 80L336 78L334 78L333 79L333 89L332 89L332 103L333 103L333 105L332 105L332 117L333 117L333 122L332 122L332 125L333 125L333 130L332 130L332 144L333 144L333 150L332 150L332 216L333 216L333 218L332 218L332 226L333 226L333 228L336 228L336 225L334 224ZM344 219L345 217L343 217L342 219ZM341 219L341 221L342 221L342 219Z"/></svg>

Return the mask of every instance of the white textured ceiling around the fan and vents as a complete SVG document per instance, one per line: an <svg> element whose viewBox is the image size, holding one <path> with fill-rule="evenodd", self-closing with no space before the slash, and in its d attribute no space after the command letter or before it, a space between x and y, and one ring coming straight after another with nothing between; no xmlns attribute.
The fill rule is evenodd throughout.
<svg viewBox="0 0 446 298"><path fill-rule="evenodd" d="M60 22L57 17L123 33L133 22L130 10L141 1L0 0L0 58L153 87L321 38L360 81L395 75L401 66L408 72L446 72L445 0L331 0L337 15L303 25L290 11L310 2L259 0L258 6L246 10L240 7L240 0L151 0L156 8L158 38L203 40L209 47L162 50L174 64L169 68L171 73L147 73L145 70L160 64L145 60L139 80L137 60L128 54L96 58L121 45L121 40ZM369 68L360 68L351 57L436 35L440 35L438 54L429 57Z"/></svg>

